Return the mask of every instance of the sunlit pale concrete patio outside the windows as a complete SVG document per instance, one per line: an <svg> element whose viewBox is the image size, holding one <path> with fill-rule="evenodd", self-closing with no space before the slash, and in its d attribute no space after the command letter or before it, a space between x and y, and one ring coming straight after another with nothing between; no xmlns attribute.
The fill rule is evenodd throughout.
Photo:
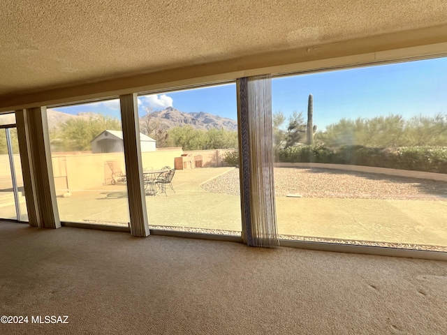
<svg viewBox="0 0 447 335"><path fill-rule="evenodd" d="M240 197L205 191L200 184L234 168L177 170L175 193L146 196L151 227L241 231ZM72 191L57 198L61 221L127 226L126 185ZM390 244L447 246L447 202L277 197L279 234ZM5 217L10 207L0 207ZM5 215L6 214L6 215ZM447 248L446 248L447 250Z"/></svg>

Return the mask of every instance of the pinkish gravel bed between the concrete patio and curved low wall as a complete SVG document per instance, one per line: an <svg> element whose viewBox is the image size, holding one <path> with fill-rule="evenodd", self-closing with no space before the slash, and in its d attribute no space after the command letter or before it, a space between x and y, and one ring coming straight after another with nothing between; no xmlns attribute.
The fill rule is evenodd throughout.
<svg viewBox="0 0 447 335"><path fill-rule="evenodd" d="M239 170L230 170L201 187L214 193L239 195ZM274 187L279 197L447 201L445 181L324 168L275 168Z"/></svg>

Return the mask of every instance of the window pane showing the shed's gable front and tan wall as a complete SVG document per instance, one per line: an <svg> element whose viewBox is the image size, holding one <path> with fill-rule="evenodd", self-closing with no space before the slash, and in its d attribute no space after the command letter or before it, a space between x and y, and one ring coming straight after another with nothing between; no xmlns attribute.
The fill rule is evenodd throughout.
<svg viewBox="0 0 447 335"><path fill-rule="evenodd" d="M119 100L47 110L61 221L129 224Z"/></svg>

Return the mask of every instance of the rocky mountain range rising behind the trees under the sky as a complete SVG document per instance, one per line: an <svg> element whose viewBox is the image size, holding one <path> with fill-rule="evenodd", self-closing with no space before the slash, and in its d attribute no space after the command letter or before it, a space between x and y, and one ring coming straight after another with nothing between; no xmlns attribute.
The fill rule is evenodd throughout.
<svg viewBox="0 0 447 335"><path fill-rule="evenodd" d="M48 109L48 126L54 128L59 123L64 123L69 119L89 119L95 117L96 113L82 112L76 115L58 112L56 110ZM237 121L228 119L226 117L219 117L205 112L181 112L174 107L167 107L164 110L152 112L140 117L140 124L144 124L149 119L149 122L159 124L159 129L169 129L176 126L191 126L196 129L210 129L218 128L227 131L237 131Z"/></svg>

